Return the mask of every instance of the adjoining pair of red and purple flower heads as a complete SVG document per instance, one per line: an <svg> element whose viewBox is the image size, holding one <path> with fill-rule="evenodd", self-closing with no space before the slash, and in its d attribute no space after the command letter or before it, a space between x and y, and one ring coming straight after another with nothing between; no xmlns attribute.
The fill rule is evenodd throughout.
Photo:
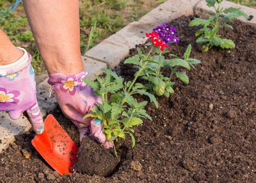
<svg viewBox="0 0 256 183"><path fill-rule="evenodd" d="M161 51L164 51L164 47L168 48L170 43L177 43L179 39L176 37L175 27L170 27L166 24L162 24L155 27L151 33L146 33L146 37L149 37L154 46L159 47Z"/></svg>

